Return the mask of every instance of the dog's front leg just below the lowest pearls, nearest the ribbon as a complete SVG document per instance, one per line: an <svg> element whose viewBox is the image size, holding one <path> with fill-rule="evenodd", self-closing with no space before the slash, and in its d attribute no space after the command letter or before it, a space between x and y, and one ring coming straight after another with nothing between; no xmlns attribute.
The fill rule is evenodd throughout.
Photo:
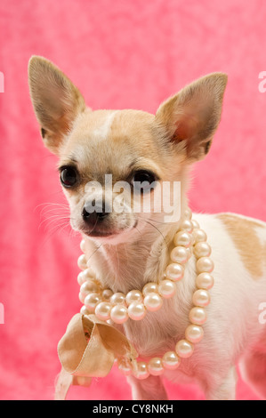
<svg viewBox="0 0 266 418"><path fill-rule="evenodd" d="M133 400L167 400L165 387L159 376L151 376L144 380L133 376L127 378L132 388Z"/></svg>

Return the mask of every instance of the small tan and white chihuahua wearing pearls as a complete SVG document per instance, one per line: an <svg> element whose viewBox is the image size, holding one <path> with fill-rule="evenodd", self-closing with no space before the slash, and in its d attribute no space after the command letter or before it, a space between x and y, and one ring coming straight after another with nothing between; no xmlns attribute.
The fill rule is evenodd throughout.
<svg viewBox="0 0 266 418"><path fill-rule="evenodd" d="M199 78L166 100L156 115L138 110L96 110L85 105L77 87L49 60L29 61L29 86L44 145L59 159L60 181L69 201L71 226L85 239L85 253L102 284L127 293L157 281L165 271L168 245L179 221L165 222L164 211L109 211L114 195L87 193L95 181L104 189L126 181L127 197L138 181L181 183L174 205L188 207L189 170L206 156L222 113L227 76ZM207 181L207 179L206 179ZM152 191L142 190L141 198ZM131 207L126 201L125 206ZM94 212L87 209L93 205ZM97 210L96 210L97 208ZM180 218L181 218L180 217ZM214 288L206 308L204 338L191 358L176 371L165 371L172 382L197 382L206 399L235 399L239 362L243 379L266 398L266 329L260 307L266 301L266 223L234 213L193 213L212 246ZM179 290L163 309L139 324L122 326L142 358L173 350L188 324L195 291L195 257L190 257ZM160 376L128 377L133 399L166 399Z"/></svg>

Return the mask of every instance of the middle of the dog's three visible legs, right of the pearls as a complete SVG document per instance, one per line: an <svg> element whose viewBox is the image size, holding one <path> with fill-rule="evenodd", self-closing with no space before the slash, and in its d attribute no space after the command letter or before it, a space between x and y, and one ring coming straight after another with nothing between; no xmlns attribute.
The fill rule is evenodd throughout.
<svg viewBox="0 0 266 418"><path fill-rule="evenodd" d="M238 374L235 367L230 370L225 378L216 380L206 388L206 400L235 400Z"/></svg>

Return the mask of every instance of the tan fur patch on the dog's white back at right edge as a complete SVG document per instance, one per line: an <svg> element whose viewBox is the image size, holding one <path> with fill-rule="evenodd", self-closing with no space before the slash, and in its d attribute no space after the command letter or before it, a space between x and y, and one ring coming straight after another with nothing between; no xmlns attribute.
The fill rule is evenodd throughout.
<svg viewBox="0 0 266 418"><path fill-rule="evenodd" d="M231 213L221 213L217 217L228 230L246 269L254 280L261 278L266 261L266 243L262 245L256 229L263 228L262 224Z"/></svg>

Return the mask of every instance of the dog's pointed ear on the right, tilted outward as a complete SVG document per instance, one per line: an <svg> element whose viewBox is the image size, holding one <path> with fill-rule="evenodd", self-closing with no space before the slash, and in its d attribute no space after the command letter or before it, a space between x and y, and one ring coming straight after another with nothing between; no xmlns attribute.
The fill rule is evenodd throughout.
<svg viewBox="0 0 266 418"><path fill-rule="evenodd" d="M227 76L213 73L199 78L166 100L157 110L157 123L166 129L173 145L185 144L187 157L196 161L206 156L222 114Z"/></svg>

